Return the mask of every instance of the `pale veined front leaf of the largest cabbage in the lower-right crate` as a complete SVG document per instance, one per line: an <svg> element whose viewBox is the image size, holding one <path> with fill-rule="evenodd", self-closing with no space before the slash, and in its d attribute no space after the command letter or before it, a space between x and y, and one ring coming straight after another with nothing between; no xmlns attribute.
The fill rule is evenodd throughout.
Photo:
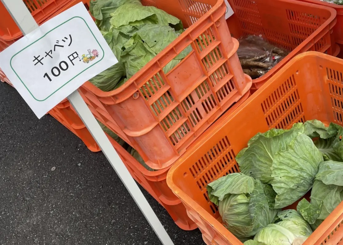
<svg viewBox="0 0 343 245"><path fill-rule="evenodd" d="M291 205L308 192L323 162L320 151L305 134L298 134L288 148L274 155L272 186L277 196L275 208Z"/></svg>

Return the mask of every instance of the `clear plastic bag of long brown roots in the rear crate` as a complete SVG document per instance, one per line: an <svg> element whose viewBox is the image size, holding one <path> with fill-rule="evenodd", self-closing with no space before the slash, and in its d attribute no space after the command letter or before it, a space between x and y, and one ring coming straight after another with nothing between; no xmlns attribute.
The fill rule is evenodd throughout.
<svg viewBox="0 0 343 245"><path fill-rule="evenodd" d="M278 48L261 36L249 35L239 38L237 54L245 74L252 79L266 74L279 63L289 51Z"/></svg>

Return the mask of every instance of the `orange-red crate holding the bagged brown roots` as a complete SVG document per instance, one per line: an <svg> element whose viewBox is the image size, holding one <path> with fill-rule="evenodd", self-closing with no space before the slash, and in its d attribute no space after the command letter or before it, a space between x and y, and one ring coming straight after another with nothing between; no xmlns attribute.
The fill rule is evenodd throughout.
<svg viewBox="0 0 343 245"><path fill-rule="evenodd" d="M292 51L267 74L252 81L253 91L297 54L318 51L337 56L340 52L332 33L336 24L336 11L332 8L295 0L228 2L235 12L227 19L233 37L263 35L271 44Z"/></svg>

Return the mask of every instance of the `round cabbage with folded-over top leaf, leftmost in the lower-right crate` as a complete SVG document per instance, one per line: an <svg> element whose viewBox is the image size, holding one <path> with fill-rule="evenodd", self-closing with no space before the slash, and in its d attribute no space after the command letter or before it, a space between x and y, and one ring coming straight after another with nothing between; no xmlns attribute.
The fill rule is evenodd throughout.
<svg viewBox="0 0 343 245"><path fill-rule="evenodd" d="M273 209L276 193L272 187L242 173L219 178L207 190L226 228L241 241L272 223L279 211Z"/></svg>

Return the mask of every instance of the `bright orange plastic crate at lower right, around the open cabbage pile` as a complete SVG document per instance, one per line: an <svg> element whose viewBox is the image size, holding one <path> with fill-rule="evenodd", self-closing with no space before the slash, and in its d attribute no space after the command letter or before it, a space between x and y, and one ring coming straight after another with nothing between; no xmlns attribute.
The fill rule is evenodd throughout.
<svg viewBox="0 0 343 245"><path fill-rule="evenodd" d="M206 185L238 172L238 152L258 132L318 119L343 125L343 60L318 52L298 55L232 114L223 115L168 172L167 184L185 204L206 244L242 245L222 224ZM339 244L343 202L303 245Z"/></svg>

